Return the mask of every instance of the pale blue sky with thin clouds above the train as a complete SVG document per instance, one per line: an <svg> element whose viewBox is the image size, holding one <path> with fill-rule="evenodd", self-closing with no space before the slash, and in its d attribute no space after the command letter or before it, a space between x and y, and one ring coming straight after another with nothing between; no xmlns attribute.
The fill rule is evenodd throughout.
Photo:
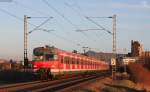
<svg viewBox="0 0 150 92"><path fill-rule="evenodd" d="M131 40L138 40L150 49L150 0L0 0L0 58L23 59L23 17L50 17L40 28L29 34L29 57L38 46L82 51L86 46L94 51L111 52L112 35L85 17L117 15L117 48L130 51ZM28 19L28 31L47 18ZM92 19L112 31L112 19ZM81 46L79 46L80 44Z"/></svg>

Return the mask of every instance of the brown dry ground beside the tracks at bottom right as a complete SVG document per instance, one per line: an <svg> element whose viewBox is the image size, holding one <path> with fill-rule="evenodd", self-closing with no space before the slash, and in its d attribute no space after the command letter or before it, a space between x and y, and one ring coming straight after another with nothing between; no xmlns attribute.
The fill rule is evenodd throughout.
<svg viewBox="0 0 150 92"><path fill-rule="evenodd" d="M67 92L150 92L150 86L135 84L130 80L115 80L110 77L97 79L72 88Z"/></svg>

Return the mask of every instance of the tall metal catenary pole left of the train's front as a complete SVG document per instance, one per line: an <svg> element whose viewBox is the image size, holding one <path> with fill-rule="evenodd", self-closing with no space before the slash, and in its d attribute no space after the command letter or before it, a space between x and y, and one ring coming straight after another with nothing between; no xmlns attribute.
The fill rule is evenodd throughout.
<svg viewBox="0 0 150 92"><path fill-rule="evenodd" d="M24 15L24 68L28 67L28 26L27 26L27 17Z"/></svg>

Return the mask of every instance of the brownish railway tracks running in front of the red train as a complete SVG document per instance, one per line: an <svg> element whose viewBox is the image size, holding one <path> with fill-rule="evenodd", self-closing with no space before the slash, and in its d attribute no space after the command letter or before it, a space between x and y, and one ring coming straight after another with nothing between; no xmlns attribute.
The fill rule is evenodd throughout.
<svg viewBox="0 0 150 92"><path fill-rule="evenodd" d="M33 81L10 84L0 86L0 92L55 92L102 76L103 74L91 74L53 81Z"/></svg>

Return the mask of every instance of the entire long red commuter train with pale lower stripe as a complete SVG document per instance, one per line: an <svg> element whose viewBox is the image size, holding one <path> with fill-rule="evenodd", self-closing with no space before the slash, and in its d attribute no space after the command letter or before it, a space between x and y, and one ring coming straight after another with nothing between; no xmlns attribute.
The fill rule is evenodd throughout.
<svg viewBox="0 0 150 92"><path fill-rule="evenodd" d="M43 71L53 76L109 69L108 63L104 61L49 46L37 47L33 50L32 66L35 72Z"/></svg>

